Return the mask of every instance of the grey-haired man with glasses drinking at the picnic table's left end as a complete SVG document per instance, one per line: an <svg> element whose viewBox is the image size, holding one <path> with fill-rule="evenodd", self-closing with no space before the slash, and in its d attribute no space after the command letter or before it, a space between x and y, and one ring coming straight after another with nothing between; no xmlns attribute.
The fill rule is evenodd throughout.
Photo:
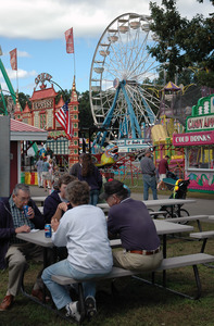
<svg viewBox="0 0 214 326"><path fill-rule="evenodd" d="M23 206L28 205L27 214ZM45 218L35 202L30 199L29 187L17 184L9 198L0 201L0 269L9 267L8 290L0 304L0 311L8 310L14 297L20 292L23 273L27 268L27 259L42 259L39 246L24 242L16 238L16 234L29 233L34 228L42 229ZM42 299L41 272L37 277L32 294Z"/></svg>

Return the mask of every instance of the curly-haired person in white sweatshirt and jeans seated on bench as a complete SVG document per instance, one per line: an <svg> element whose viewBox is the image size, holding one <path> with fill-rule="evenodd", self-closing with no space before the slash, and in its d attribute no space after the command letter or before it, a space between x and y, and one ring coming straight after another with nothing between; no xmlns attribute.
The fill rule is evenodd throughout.
<svg viewBox="0 0 214 326"><path fill-rule="evenodd" d="M90 205L89 186L75 180L66 188L66 197L73 209L64 213L60 222L54 220L52 241L66 246L67 259L47 267L41 278L48 287L56 308L80 322L78 301L72 302L67 287L54 283L52 275L86 279L84 283L86 314L96 314L96 284L91 278L101 277L112 269L112 250L108 238L106 220L101 209Z"/></svg>

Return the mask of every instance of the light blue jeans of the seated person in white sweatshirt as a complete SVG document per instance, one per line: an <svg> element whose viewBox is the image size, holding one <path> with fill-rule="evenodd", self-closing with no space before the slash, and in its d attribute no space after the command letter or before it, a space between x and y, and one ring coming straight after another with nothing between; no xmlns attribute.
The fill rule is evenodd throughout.
<svg viewBox="0 0 214 326"><path fill-rule="evenodd" d="M110 273L110 271L106 271L106 274ZM104 273L103 273L104 274ZM62 286L60 284L56 284L51 279L52 275L61 275L61 276L67 276L67 277L73 277L75 279L90 279L95 277L100 277L103 274L86 274L83 272L79 272L75 269L72 264L67 261L61 261L58 262L49 267L47 267L42 275L41 278L51 292L53 302L55 303L55 306L60 310L63 306L65 306L67 303L72 301L70 297L70 290L67 286ZM96 283L95 281L86 281L83 284L84 285L84 294L85 298L88 296L95 297L96 294Z"/></svg>

